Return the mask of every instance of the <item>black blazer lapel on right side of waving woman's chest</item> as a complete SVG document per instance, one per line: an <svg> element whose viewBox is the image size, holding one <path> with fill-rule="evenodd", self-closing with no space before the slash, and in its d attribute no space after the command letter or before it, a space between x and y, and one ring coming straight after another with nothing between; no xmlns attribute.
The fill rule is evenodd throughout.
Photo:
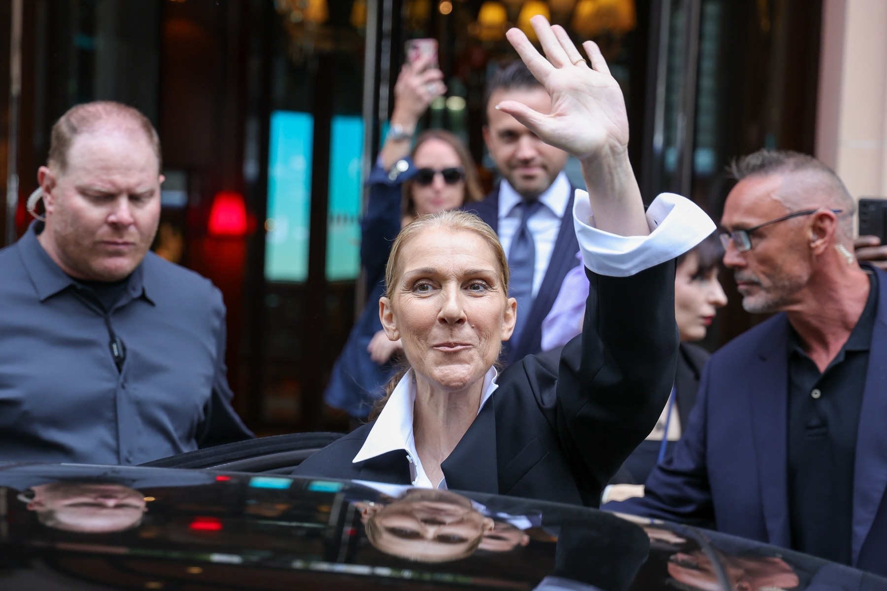
<svg viewBox="0 0 887 591"><path fill-rule="evenodd" d="M496 467L496 398L495 392L483 405L441 469L446 486L452 490L477 493L498 493Z"/></svg>

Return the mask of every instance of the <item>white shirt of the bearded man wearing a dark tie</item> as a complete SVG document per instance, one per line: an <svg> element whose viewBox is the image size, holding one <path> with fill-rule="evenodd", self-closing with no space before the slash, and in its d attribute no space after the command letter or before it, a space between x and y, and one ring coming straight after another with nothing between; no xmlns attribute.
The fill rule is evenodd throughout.
<svg viewBox="0 0 887 591"><path fill-rule="evenodd" d="M514 234L521 225L522 209L517 206L523 198L514 187L508 184L504 178L499 184L498 205L498 237L505 249L506 255L511 248ZM544 207L539 208L535 216L527 220L527 229L533 235L533 243L536 247L536 265L533 272L533 297L542 287L542 280L551 262L554 252L554 243L561 232L561 220L567 213L569 203L569 180L563 172L554 178L554 182L545 193L539 195L539 202Z"/></svg>

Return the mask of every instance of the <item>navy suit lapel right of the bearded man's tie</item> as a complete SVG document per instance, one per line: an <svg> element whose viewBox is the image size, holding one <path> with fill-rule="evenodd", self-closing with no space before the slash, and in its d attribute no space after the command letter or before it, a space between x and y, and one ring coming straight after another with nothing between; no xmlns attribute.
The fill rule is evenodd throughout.
<svg viewBox="0 0 887 591"><path fill-rule="evenodd" d="M507 351L508 363L514 363L530 353L538 353L542 343L542 320L551 311L554 300L561 291L563 278L567 272L578 263L576 253L579 252L579 243L576 240L576 230L573 228L573 200L576 198L576 187L569 186L569 201L567 209L561 217L561 230L557 240L554 241L554 249L546 268L546 275L542 279L542 286L530 307L530 317L523 329L521 341ZM506 343L508 343L506 341Z"/></svg>

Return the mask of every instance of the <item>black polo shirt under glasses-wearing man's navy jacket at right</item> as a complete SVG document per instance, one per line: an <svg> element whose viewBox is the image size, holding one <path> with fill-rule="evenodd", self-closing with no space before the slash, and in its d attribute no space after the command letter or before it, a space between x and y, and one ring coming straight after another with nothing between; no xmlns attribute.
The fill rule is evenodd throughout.
<svg viewBox="0 0 887 591"><path fill-rule="evenodd" d="M789 325L789 519L792 548L851 562L853 472L878 284L847 342L820 373Z"/></svg>

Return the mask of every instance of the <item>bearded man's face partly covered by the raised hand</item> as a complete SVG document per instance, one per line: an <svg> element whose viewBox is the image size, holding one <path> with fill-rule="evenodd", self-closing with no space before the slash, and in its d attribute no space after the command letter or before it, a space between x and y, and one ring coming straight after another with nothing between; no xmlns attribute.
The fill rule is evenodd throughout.
<svg viewBox="0 0 887 591"><path fill-rule="evenodd" d="M494 91L487 105L483 138L496 168L524 199L545 193L567 162L567 153L549 146L510 114L493 108L503 100L516 100L539 113L551 110L551 97L541 87Z"/></svg>

